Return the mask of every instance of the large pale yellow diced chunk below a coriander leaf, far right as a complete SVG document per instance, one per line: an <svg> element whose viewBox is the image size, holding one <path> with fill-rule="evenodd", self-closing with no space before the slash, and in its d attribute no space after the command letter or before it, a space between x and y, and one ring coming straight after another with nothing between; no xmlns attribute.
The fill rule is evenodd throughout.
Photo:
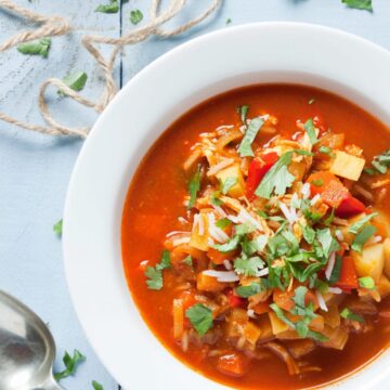
<svg viewBox="0 0 390 390"><path fill-rule="evenodd" d="M361 255L352 250L351 256L360 277L370 276L379 282L385 265L384 244L366 246Z"/></svg>

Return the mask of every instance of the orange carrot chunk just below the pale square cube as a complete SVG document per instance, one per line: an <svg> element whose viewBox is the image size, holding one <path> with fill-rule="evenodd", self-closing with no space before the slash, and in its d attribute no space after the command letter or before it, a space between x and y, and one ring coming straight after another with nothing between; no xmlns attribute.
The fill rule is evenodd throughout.
<svg viewBox="0 0 390 390"><path fill-rule="evenodd" d="M311 194L320 194L324 203L330 207L338 207L343 199L351 196L341 181L328 171L312 173L308 183Z"/></svg>

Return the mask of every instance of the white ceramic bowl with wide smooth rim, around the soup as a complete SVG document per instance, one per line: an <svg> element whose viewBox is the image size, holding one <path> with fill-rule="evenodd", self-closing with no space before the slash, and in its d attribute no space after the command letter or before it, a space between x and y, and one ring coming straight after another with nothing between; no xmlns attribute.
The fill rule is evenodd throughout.
<svg viewBox="0 0 390 390"><path fill-rule="evenodd" d="M65 271L95 352L125 388L225 389L187 368L153 336L125 280L120 221L140 159L181 114L220 92L261 82L309 84L390 123L390 53L339 30L250 24L194 39L162 55L120 91L77 160L64 216ZM362 346L364 348L364 346ZM390 354L338 382L385 389Z"/></svg>

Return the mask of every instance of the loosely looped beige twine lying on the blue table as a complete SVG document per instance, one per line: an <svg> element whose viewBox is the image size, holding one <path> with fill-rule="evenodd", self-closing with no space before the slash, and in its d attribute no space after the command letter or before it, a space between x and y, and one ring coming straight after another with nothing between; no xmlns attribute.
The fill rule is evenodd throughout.
<svg viewBox="0 0 390 390"><path fill-rule="evenodd" d="M150 11L150 22L133 31L123 35L120 38L109 38L103 36L88 35L81 40L86 49L91 53L94 60L98 62L100 68L103 70L105 77L105 87L98 102L92 102L84 99L80 93L74 91L66 86L61 79L49 78L39 88L38 105L44 121L49 126L39 126L17 120L4 113L0 113L0 119L9 123L16 125L27 130L37 131L43 134L50 135L74 135L80 138L87 138L90 128L69 128L67 126L58 123L50 114L49 107L44 100L44 93L49 86L54 86L65 92L66 95L74 99L78 103L93 108L95 112L101 113L107 104L112 101L117 93L117 87L113 77L113 68L118 53L126 44L135 44L144 41L148 37L155 35L161 38L169 38L182 34L193 26L197 25L214 12L223 0L212 0L210 6L200 15L192 21L171 30L164 30L161 26L174 17L185 5L186 0L170 0L166 10L160 11L161 0L152 0ZM62 16L46 16L31 12L24 6L13 3L11 0L0 0L0 8L6 9L12 13L18 14L26 20L40 23L41 26L31 31L21 31L0 44L0 52L15 47L22 42L27 42L34 39L40 39L43 37L66 35L70 31L72 27L68 21ZM114 50L109 58L106 61L95 44L106 43L114 46Z"/></svg>

